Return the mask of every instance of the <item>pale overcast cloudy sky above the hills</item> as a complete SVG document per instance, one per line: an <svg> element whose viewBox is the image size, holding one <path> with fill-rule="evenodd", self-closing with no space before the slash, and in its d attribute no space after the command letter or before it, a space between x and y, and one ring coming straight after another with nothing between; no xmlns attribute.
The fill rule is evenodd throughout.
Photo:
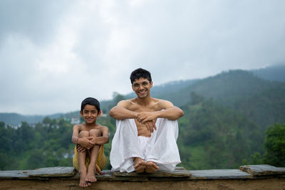
<svg viewBox="0 0 285 190"><path fill-rule="evenodd" d="M85 97L285 63L285 1L0 1L0 112L79 110Z"/></svg>

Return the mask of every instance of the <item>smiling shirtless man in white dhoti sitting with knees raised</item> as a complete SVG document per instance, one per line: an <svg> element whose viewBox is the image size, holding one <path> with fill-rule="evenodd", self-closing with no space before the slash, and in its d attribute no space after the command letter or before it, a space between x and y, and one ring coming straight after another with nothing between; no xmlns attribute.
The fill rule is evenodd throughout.
<svg viewBox="0 0 285 190"><path fill-rule="evenodd" d="M184 113L172 102L150 96L152 79L147 70L134 70L130 82L138 97L122 100L110 110L117 120L110 152L112 169L138 173L174 170L180 163L177 119Z"/></svg>

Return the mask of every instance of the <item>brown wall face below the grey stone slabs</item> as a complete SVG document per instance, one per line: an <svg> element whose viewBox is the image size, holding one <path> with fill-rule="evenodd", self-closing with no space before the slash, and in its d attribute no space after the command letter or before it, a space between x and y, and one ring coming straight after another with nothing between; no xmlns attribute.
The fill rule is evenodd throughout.
<svg viewBox="0 0 285 190"><path fill-rule="evenodd" d="M50 179L48 181L1 180L0 189L82 189L78 179ZM284 190L285 179L211 179L191 181L98 181L86 189L242 189L242 190Z"/></svg>

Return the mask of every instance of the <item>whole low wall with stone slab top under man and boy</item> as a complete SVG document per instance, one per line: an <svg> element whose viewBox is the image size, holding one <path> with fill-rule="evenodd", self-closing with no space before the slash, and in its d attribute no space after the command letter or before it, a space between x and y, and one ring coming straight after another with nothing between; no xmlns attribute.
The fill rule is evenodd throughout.
<svg viewBox="0 0 285 190"><path fill-rule="evenodd" d="M242 170L243 168L244 171ZM155 174L104 170L86 189L285 189L285 168L268 165L241 169L160 171ZM82 189L72 167L0 171L0 189Z"/></svg>

